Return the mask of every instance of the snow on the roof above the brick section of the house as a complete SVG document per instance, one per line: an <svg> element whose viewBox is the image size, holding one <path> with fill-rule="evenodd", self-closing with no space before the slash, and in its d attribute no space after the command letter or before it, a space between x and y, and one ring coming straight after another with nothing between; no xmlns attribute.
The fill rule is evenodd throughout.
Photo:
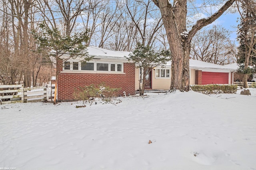
<svg viewBox="0 0 256 170"><path fill-rule="evenodd" d="M118 57L118 58L124 58L129 56L131 52L127 51L113 51L113 50L107 50L102 49L100 47L94 47L89 46L87 47L88 55L95 56L95 57Z"/></svg>

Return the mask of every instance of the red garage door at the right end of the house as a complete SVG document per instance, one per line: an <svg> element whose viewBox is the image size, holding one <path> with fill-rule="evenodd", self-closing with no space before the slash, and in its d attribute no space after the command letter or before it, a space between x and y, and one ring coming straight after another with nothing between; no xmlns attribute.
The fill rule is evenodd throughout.
<svg viewBox="0 0 256 170"><path fill-rule="evenodd" d="M202 72L204 84L228 84L228 72Z"/></svg>

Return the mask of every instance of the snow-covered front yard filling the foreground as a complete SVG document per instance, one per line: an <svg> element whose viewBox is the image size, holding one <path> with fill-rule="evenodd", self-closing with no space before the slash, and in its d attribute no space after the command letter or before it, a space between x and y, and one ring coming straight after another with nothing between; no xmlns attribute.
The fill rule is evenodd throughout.
<svg viewBox="0 0 256 170"><path fill-rule="evenodd" d="M116 106L0 105L0 167L256 170L256 89L249 90L148 93Z"/></svg>

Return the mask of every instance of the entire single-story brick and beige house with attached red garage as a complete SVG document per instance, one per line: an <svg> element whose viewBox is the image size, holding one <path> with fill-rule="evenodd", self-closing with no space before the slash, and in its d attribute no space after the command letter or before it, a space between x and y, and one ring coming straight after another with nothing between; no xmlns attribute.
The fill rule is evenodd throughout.
<svg viewBox="0 0 256 170"><path fill-rule="evenodd" d="M110 88L120 88L116 95L134 95L139 89L140 68L128 61L130 52L111 51L99 47L87 48L91 61L83 62L83 57L68 59L69 55L62 55L57 64L58 100L74 100L75 89L95 86L105 83ZM68 59L68 60L66 60ZM221 66L190 59L190 84L232 84L234 66ZM148 83L145 89L169 90L171 82L171 63L164 68L154 68L146 76Z"/></svg>

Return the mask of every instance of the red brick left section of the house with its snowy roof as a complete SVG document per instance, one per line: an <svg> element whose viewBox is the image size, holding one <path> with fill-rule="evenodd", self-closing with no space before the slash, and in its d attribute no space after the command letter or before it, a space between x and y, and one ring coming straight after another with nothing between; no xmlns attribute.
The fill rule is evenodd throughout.
<svg viewBox="0 0 256 170"><path fill-rule="evenodd" d="M105 83L110 88L120 88L116 95L135 94L135 64L126 59L130 52L110 51L98 47L87 48L89 56L93 59L86 63L83 58L60 60L57 64L58 100L74 100L75 89L94 84ZM67 59L68 54L61 58Z"/></svg>

